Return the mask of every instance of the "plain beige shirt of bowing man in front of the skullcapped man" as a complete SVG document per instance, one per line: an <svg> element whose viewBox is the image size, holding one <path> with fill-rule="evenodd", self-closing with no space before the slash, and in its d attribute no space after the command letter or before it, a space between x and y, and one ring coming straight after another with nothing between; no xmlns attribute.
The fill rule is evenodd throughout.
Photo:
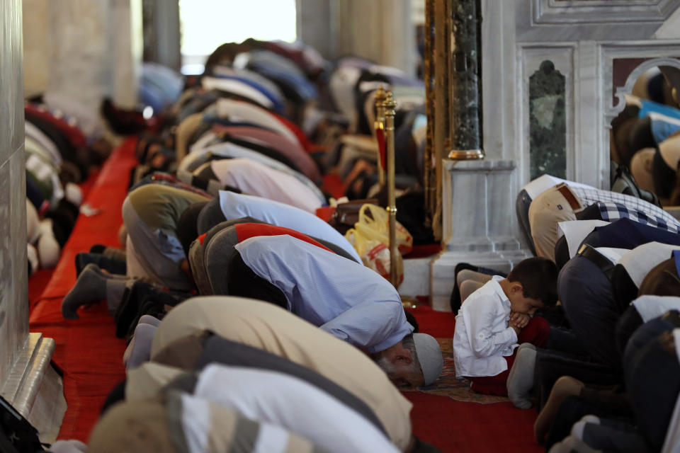
<svg viewBox="0 0 680 453"><path fill-rule="evenodd" d="M361 398L385 427L390 440L407 451L414 442L412 404L387 374L358 349L267 302L240 297L194 297L172 309L160 323L151 360L180 338L215 332L310 368Z"/></svg>

